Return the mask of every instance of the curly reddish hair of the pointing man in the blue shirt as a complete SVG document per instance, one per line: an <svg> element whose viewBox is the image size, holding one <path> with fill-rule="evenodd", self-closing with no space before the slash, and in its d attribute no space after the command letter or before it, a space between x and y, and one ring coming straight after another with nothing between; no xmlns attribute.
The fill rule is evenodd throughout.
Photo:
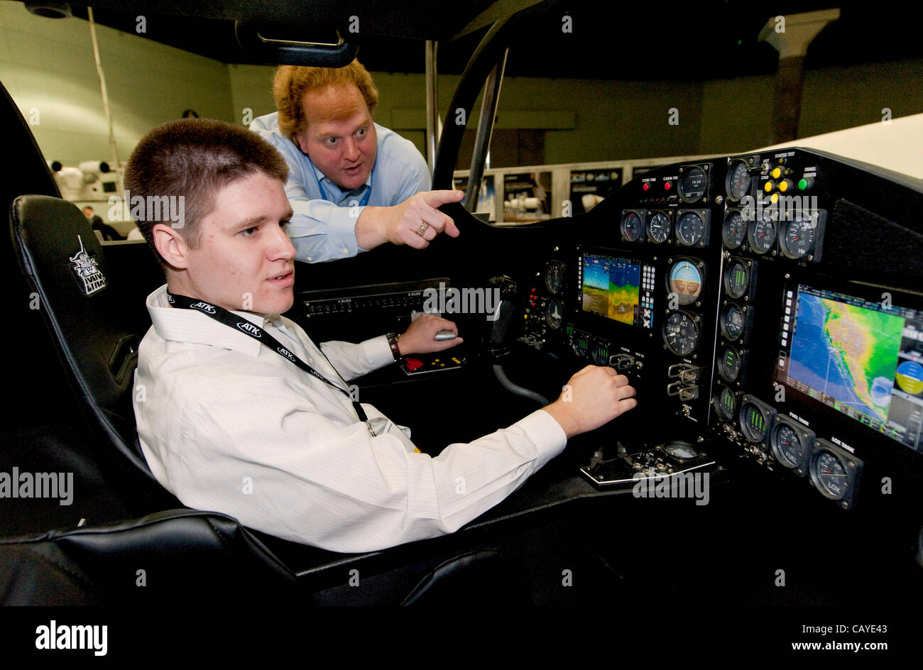
<svg viewBox="0 0 923 670"><path fill-rule="evenodd" d="M372 76L357 60L345 67L279 66L272 80L272 95L279 110L279 129L282 136L291 138L305 130L305 93L322 90L328 86L355 84L366 100L368 113L378 104L378 90Z"/></svg>

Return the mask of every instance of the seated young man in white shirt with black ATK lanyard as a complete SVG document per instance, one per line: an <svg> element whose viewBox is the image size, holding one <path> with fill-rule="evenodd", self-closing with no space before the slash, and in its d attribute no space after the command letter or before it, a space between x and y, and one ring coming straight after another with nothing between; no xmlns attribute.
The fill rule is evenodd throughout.
<svg viewBox="0 0 923 670"><path fill-rule="evenodd" d="M435 335L457 328L426 315L396 342L318 348L280 317L294 303L286 176L264 140L206 119L158 126L126 168L133 195L185 198L175 209L184 221L137 221L167 284L148 297L153 327L136 373L145 394L135 401L150 469L184 504L334 551L377 550L456 531L569 437L635 406L626 377L588 365L570 378L567 401L438 458L420 453L354 402L348 380L454 346L460 339Z"/></svg>

